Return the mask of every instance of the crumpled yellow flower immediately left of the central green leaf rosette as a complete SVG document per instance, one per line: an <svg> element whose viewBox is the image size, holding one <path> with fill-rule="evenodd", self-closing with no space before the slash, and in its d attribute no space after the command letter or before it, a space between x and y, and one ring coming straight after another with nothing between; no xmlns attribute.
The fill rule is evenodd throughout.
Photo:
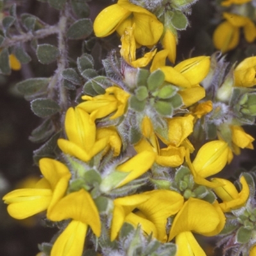
<svg viewBox="0 0 256 256"><path fill-rule="evenodd" d="M106 89L104 95L97 95L95 97L82 96L82 99L86 100L86 102L80 103L77 108L81 108L87 113L92 114L95 119L108 116L115 112L109 118L115 119L124 115L129 97L129 93L116 86L111 86Z"/></svg>

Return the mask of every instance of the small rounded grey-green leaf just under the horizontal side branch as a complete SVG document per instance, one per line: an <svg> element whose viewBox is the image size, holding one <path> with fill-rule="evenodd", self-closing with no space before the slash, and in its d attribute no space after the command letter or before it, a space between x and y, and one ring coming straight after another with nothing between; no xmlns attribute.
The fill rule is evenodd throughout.
<svg viewBox="0 0 256 256"><path fill-rule="evenodd" d="M36 56L42 64L49 64L60 56L60 51L54 45L41 44L36 49Z"/></svg>

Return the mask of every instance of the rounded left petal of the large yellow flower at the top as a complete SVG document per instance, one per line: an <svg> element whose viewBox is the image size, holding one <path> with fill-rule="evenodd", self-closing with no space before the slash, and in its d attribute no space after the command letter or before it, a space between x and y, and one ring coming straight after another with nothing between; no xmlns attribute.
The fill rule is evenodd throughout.
<svg viewBox="0 0 256 256"><path fill-rule="evenodd" d="M93 30L95 35L98 37L110 35L130 14L129 10L122 8L119 4L108 6L94 20Z"/></svg>

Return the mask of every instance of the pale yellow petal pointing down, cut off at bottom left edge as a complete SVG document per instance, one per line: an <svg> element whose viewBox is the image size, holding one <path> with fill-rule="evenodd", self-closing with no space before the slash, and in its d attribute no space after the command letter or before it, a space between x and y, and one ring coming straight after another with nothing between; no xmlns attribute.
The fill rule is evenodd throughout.
<svg viewBox="0 0 256 256"><path fill-rule="evenodd" d="M72 220L53 244L51 256L81 256L87 227L81 221Z"/></svg>

